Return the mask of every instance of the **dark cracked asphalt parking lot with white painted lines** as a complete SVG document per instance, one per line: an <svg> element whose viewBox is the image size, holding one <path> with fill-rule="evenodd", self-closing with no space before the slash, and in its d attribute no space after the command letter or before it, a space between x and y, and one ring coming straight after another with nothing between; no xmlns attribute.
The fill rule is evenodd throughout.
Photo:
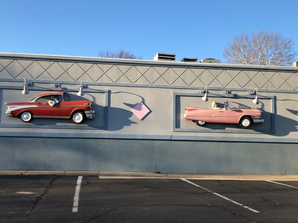
<svg viewBox="0 0 298 223"><path fill-rule="evenodd" d="M0 222L298 221L298 181L14 175L0 182Z"/></svg>

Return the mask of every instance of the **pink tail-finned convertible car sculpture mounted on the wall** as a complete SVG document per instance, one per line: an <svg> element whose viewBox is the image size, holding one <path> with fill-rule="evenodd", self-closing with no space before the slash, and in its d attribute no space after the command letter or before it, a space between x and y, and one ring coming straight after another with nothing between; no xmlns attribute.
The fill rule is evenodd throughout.
<svg viewBox="0 0 298 223"><path fill-rule="evenodd" d="M238 103L237 105L235 107L233 103L226 101L224 102L224 108L217 107L216 102L212 102L212 109L186 107L184 119L192 120L199 126L205 125L206 122L232 123L239 124L243 129L247 129L252 122L264 122L260 109L252 109Z"/></svg>

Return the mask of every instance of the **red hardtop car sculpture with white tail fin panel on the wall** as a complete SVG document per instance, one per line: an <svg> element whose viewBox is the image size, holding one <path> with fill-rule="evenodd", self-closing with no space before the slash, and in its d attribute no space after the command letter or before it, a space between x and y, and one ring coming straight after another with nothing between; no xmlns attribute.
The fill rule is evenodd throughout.
<svg viewBox="0 0 298 223"><path fill-rule="evenodd" d="M53 107L48 103L51 95L59 101ZM24 122L30 122L33 118L61 118L81 124L85 119L95 118L92 103L93 101L71 101L69 94L65 92L50 92L38 94L29 102L5 103L5 114L20 117Z"/></svg>

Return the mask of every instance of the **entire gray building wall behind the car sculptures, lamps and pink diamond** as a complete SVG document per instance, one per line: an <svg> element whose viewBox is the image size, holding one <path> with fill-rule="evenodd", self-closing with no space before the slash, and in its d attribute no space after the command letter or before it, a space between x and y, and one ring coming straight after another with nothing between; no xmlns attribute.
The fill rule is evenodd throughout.
<svg viewBox="0 0 298 223"><path fill-rule="evenodd" d="M25 77L28 95L21 94ZM83 97L76 95L81 80ZM5 115L5 103L53 91L95 101L97 118L75 125ZM294 67L0 53L0 169L297 174L297 93ZM226 99L262 109L265 122L241 129L183 119L185 106ZM142 120L131 112L140 101L151 110Z"/></svg>

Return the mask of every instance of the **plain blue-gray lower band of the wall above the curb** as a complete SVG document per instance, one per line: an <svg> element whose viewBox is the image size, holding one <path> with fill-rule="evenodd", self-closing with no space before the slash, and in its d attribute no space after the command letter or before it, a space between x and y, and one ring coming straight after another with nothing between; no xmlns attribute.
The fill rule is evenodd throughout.
<svg viewBox="0 0 298 223"><path fill-rule="evenodd" d="M0 137L0 169L297 174L298 144Z"/></svg>

